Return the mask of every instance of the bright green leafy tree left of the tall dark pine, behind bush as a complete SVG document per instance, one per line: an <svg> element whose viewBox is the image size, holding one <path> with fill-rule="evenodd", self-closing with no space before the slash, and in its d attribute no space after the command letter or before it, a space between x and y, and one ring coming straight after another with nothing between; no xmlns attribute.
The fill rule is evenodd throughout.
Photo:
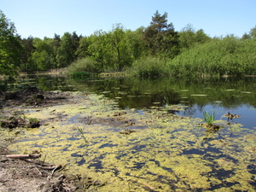
<svg viewBox="0 0 256 192"><path fill-rule="evenodd" d="M141 35L135 35L129 30L125 31L124 26L115 24L110 32L96 31L94 35L83 39L79 51L84 48L84 56L90 56L97 61L101 71L120 71L124 67L131 67L134 58L141 55ZM79 55L81 53L83 50Z"/></svg>

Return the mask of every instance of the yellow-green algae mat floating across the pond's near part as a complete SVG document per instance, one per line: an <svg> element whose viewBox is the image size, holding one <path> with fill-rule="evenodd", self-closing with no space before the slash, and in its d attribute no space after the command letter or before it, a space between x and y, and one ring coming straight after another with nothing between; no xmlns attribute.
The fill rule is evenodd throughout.
<svg viewBox="0 0 256 192"><path fill-rule="evenodd" d="M211 130L165 108L119 110L104 96L72 94L61 105L20 108L41 126L20 128L9 149L38 151L105 183L97 191L255 191L255 131L224 120Z"/></svg>

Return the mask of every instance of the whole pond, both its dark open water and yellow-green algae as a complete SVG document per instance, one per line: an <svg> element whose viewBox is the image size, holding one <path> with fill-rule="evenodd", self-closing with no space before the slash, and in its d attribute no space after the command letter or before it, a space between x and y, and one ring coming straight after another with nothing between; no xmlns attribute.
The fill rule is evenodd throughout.
<svg viewBox="0 0 256 192"><path fill-rule="evenodd" d="M20 79L26 82L79 97L55 108L28 108L32 118L67 115L22 133L14 151L37 148L73 173L106 182L101 191L255 190L255 78ZM201 126L204 111L215 113L222 128ZM227 112L240 118L228 119ZM119 134L127 127L136 132Z"/></svg>

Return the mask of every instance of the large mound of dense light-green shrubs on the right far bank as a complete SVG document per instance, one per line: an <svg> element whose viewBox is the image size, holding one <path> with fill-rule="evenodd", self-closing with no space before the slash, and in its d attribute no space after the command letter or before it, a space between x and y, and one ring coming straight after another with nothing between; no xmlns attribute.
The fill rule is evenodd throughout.
<svg viewBox="0 0 256 192"><path fill-rule="evenodd" d="M226 37L212 39L177 55L167 62L170 74L202 75L255 75L256 41Z"/></svg>

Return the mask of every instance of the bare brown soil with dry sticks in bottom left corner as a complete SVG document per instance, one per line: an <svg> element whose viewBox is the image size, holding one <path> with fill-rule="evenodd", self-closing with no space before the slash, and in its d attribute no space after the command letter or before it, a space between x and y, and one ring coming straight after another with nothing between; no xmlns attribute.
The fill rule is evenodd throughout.
<svg viewBox="0 0 256 192"><path fill-rule="evenodd" d="M0 191L86 191L90 186L102 186L90 177L67 176L61 172L61 166L6 158L4 154L9 151L3 147L0 154Z"/></svg>

